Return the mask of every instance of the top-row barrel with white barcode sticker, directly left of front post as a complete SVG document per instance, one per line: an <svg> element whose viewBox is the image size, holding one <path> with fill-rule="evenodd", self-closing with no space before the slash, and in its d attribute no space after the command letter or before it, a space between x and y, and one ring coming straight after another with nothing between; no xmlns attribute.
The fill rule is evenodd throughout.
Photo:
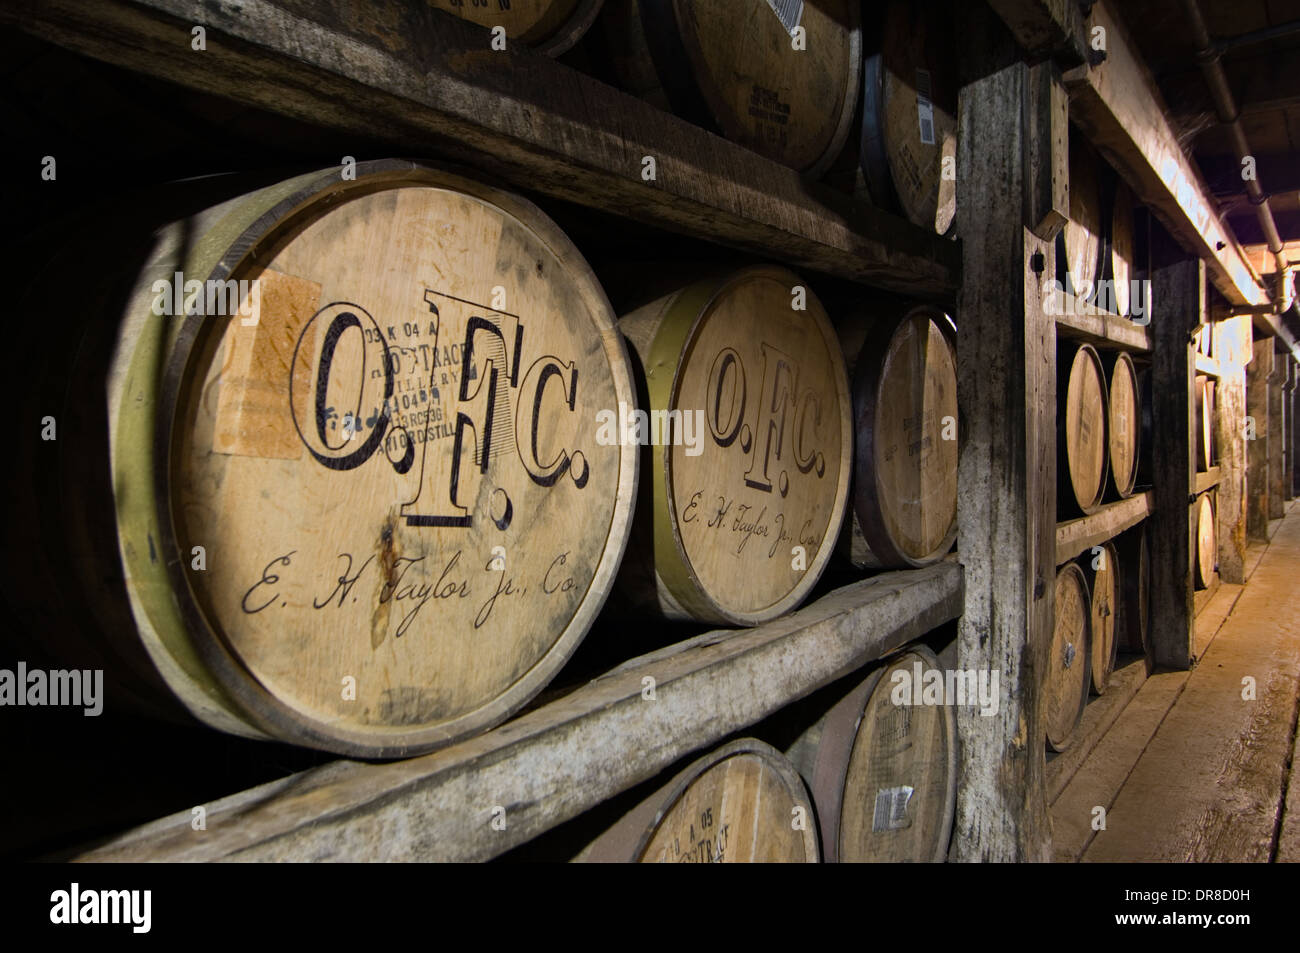
<svg viewBox="0 0 1300 953"><path fill-rule="evenodd" d="M862 172L875 204L945 234L957 213L952 18L904 0L875 9L862 70Z"/></svg>

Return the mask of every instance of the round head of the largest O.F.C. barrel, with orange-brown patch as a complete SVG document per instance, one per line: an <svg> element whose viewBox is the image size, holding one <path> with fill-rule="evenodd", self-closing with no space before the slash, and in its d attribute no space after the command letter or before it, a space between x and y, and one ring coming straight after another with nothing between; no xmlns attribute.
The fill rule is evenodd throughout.
<svg viewBox="0 0 1300 953"><path fill-rule="evenodd" d="M296 711L476 711L604 555L624 451L594 436L620 391L592 299L523 222L430 187L338 203L268 265L257 326L202 354L177 411L196 598Z"/></svg>

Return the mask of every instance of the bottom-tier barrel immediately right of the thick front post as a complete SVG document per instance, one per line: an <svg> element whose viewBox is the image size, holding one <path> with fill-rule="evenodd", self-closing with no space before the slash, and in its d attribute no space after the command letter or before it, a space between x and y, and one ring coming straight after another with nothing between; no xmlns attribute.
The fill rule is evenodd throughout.
<svg viewBox="0 0 1300 953"><path fill-rule="evenodd" d="M1048 653L1046 738L1053 751L1069 748L1088 702L1092 677L1091 629L1092 599L1088 595L1088 581L1078 563L1066 563L1057 571L1056 624Z"/></svg>

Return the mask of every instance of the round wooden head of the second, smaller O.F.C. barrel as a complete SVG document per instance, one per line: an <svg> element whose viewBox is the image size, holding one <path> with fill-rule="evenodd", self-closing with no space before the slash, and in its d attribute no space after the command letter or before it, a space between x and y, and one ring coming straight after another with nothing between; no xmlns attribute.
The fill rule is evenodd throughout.
<svg viewBox="0 0 1300 953"><path fill-rule="evenodd" d="M681 358L676 532L701 590L729 611L800 586L842 504L848 385L820 319L790 307L793 282L728 286Z"/></svg>

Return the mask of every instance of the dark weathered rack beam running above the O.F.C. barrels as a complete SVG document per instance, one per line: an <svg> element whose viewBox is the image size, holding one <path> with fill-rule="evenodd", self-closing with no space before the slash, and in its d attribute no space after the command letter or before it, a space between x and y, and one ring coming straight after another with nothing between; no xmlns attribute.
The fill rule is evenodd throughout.
<svg viewBox="0 0 1300 953"><path fill-rule="evenodd" d="M344 133L381 130L534 190L911 296L954 293L959 250L894 216L420 0L23 0L0 22ZM194 25L207 48L191 49ZM642 178L644 159L655 176Z"/></svg>

